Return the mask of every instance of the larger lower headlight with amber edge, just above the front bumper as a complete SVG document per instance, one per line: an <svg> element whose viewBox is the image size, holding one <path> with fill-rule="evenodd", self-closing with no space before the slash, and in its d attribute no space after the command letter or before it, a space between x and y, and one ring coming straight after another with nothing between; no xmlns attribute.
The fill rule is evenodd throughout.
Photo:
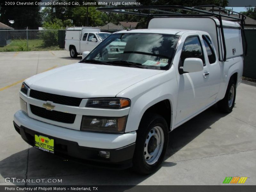
<svg viewBox="0 0 256 192"><path fill-rule="evenodd" d="M81 131L124 133L127 116L96 117L83 116Z"/></svg>

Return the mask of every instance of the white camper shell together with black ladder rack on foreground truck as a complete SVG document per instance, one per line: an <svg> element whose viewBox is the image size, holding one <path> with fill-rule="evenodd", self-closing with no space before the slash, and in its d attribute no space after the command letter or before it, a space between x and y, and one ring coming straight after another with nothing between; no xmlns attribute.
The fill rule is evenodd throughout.
<svg viewBox="0 0 256 192"><path fill-rule="evenodd" d="M214 11L205 11L207 7ZM208 32L212 37L220 61L247 54L247 41L244 34L244 20L246 17L241 13L222 7L215 5L195 7L163 5L118 7L118 10L116 7L100 7L97 9L103 12L148 17L146 27L148 29L184 29ZM216 13L216 10L219 13ZM180 13L180 11L183 13ZM227 14L221 14L221 12L227 12ZM232 17L231 12L238 14L238 18ZM223 18L238 21L240 24L223 20ZM239 40L237 41L237 39Z"/></svg>

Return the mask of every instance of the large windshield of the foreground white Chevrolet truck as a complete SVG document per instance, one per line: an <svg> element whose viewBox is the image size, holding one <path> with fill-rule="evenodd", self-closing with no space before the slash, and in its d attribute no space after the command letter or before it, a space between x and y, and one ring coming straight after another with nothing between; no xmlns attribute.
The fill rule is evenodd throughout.
<svg viewBox="0 0 256 192"><path fill-rule="evenodd" d="M116 33L99 44L81 62L169 69L179 36L154 33Z"/></svg>

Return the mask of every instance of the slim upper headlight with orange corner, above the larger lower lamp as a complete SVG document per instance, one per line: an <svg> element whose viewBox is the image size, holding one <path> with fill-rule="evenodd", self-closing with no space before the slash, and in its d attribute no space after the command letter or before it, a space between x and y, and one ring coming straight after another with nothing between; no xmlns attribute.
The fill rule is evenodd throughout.
<svg viewBox="0 0 256 192"><path fill-rule="evenodd" d="M89 99L86 107L121 109L130 106L130 100L123 98Z"/></svg>

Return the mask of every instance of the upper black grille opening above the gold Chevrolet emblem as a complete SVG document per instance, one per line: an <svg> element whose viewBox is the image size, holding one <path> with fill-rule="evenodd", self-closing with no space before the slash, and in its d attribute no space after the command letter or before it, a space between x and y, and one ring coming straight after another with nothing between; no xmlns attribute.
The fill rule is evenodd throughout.
<svg viewBox="0 0 256 192"><path fill-rule="evenodd" d="M46 93L36 90L30 90L30 97L43 101L52 101L53 103L59 103L62 105L79 106L82 99L76 97L68 97L63 95L56 95L52 93Z"/></svg>

